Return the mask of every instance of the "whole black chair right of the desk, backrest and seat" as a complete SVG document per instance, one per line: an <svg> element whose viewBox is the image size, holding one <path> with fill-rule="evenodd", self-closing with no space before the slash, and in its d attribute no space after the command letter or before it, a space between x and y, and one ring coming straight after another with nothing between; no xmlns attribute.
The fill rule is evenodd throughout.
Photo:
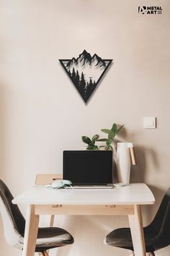
<svg viewBox="0 0 170 256"><path fill-rule="evenodd" d="M170 244L170 188L164 195L153 221L143 228L146 252L155 255L157 249ZM115 229L106 236L106 244L133 251L133 242L129 228Z"/></svg>

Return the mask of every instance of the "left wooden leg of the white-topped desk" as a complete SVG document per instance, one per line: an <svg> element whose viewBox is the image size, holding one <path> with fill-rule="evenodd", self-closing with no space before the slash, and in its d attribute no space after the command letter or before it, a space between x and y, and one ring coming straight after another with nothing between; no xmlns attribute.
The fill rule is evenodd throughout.
<svg viewBox="0 0 170 256"><path fill-rule="evenodd" d="M34 205L29 205L27 208L26 226L24 231L23 256L35 255L38 224L39 216L35 215L35 207Z"/></svg>

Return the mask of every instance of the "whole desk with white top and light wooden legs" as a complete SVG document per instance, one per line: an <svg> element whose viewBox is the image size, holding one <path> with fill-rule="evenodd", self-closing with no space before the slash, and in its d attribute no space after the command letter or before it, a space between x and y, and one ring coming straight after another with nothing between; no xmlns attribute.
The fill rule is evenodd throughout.
<svg viewBox="0 0 170 256"><path fill-rule="evenodd" d="M155 202L146 184L130 184L114 189L45 189L33 187L15 197L14 204L27 205L23 256L35 255L39 216L127 215L133 237L135 256L146 255L140 205Z"/></svg>

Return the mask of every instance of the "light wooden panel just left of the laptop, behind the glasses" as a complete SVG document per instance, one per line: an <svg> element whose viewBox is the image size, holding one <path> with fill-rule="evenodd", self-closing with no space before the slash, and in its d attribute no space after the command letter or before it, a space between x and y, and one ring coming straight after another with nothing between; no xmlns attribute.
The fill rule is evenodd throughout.
<svg viewBox="0 0 170 256"><path fill-rule="evenodd" d="M58 179L62 179L62 174L37 174L35 184L46 185Z"/></svg>

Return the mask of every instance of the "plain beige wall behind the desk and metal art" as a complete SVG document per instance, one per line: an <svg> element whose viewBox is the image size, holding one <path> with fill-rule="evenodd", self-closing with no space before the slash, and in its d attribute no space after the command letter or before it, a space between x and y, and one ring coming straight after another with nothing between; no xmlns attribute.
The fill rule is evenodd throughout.
<svg viewBox="0 0 170 256"><path fill-rule="evenodd" d="M163 13L138 14L143 5ZM143 208L144 224L151 221L170 183L169 27L169 0L0 0L0 176L14 195L37 173L61 173L63 150L84 149L81 135L115 121L125 124L117 140L135 144L131 182L146 182L156 196ZM87 104L58 61L84 48L114 61ZM156 116L157 129L143 129L144 116ZM128 225L125 217L60 216L56 224L75 238L58 256L128 255L103 244L109 231ZM4 255L22 253L1 231Z"/></svg>

